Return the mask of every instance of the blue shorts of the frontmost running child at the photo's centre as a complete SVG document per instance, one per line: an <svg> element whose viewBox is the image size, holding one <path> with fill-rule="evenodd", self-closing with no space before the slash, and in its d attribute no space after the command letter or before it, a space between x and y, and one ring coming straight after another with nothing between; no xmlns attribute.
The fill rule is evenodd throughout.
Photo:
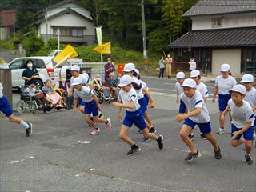
<svg viewBox="0 0 256 192"><path fill-rule="evenodd" d="M133 112L126 110L126 117L123 120L122 125L131 127L133 124L140 130L144 130L146 128L146 122L141 110Z"/></svg>

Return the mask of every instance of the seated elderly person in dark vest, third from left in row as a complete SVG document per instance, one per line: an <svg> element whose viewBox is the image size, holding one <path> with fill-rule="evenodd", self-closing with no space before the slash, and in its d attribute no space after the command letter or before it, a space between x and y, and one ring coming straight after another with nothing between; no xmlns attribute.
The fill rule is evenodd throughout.
<svg viewBox="0 0 256 192"><path fill-rule="evenodd" d="M70 110L72 109L72 104L74 101L74 95L72 94L71 97L68 97L68 91L70 89L70 82L66 82L65 75L62 75L59 82L57 82L54 86L54 90L58 92L62 96L62 98L65 98L66 100L66 109Z"/></svg>

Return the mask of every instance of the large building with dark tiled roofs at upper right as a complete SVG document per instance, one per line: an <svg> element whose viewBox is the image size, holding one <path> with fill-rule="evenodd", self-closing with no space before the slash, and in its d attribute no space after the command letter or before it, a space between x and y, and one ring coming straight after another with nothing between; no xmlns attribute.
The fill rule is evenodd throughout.
<svg viewBox="0 0 256 192"><path fill-rule="evenodd" d="M201 0L183 16L192 19L192 30L168 46L183 70L194 58L198 70L214 76L223 63L235 76L256 73L255 0Z"/></svg>

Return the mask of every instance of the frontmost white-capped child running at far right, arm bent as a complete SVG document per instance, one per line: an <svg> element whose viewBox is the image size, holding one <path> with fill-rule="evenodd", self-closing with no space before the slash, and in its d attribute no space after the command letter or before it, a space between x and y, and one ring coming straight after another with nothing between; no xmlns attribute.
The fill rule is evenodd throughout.
<svg viewBox="0 0 256 192"><path fill-rule="evenodd" d="M243 100L246 96L245 86L236 85L230 92L232 99L229 100L221 118L224 121L225 115L231 112L231 146L237 147L245 143L246 162L251 165L253 163L250 158L250 151L252 150L252 140L254 138L254 112L250 104ZM243 138L241 138L242 135Z"/></svg>

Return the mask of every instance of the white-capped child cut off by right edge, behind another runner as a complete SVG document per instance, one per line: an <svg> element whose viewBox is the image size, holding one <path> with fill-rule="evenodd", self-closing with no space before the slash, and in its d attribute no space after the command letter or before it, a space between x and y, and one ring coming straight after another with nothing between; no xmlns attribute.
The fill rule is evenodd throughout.
<svg viewBox="0 0 256 192"><path fill-rule="evenodd" d="M242 76L242 84L246 87L246 97L244 100L249 102L254 111L254 118L256 119L256 89L253 87L254 76L252 74L244 74ZM256 133L256 120L254 120L254 132ZM256 135L254 134L254 138ZM256 147L256 142L255 142Z"/></svg>

